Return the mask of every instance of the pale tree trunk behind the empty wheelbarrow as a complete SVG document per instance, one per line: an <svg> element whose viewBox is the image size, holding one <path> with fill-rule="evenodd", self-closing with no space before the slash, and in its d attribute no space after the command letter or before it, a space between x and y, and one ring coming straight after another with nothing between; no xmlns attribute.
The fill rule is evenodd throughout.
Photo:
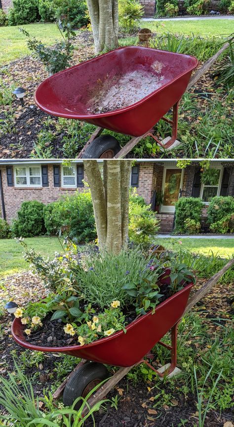
<svg viewBox="0 0 234 427"><path fill-rule="evenodd" d="M118 46L118 0L87 0L95 53Z"/></svg>

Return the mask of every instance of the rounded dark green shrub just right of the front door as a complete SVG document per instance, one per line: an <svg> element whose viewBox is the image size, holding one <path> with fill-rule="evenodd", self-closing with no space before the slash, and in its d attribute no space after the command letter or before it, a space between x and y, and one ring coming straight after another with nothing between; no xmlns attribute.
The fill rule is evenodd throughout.
<svg viewBox="0 0 234 427"><path fill-rule="evenodd" d="M195 197L181 197L175 204L175 231L177 233L186 232L185 220L194 219L195 223L200 223L201 209L203 203Z"/></svg>

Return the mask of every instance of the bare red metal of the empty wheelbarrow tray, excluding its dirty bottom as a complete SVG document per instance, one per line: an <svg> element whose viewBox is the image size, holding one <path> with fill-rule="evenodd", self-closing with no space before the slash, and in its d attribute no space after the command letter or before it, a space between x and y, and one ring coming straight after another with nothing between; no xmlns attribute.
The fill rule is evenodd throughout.
<svg viewBox="0 0 234 427"><path fill-rule="evenodd" d="M44 80L36 91L35 100L40 109L53 116L141 136L179 101L197 63L190 55L142 46L119 47ZM155 64L159 68L153 71ZM127 107L89 114L90 93L99 90L99 82L115 76L120 76L121 80L127 73L143 68L161 79L159 88Z"/></svg>

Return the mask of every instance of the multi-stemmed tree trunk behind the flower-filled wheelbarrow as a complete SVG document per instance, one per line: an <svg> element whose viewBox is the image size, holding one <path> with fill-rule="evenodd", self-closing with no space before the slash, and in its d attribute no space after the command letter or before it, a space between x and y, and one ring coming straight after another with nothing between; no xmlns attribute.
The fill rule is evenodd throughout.
<svg viewBox="0 0 234 427"><path fill-rule="evenodd" d="M130 160L104 160L103 179L96 160L84 160L102 252L127 248Z"/></svg>

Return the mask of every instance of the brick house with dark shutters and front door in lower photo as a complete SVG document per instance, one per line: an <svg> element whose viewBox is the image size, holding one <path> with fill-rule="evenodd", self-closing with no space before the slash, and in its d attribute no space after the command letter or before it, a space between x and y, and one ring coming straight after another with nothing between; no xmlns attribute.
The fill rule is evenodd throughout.
<svg viewBox="0 0 234 427"><path fill-rule="evenodd" d="M100 161L100 165L102 161ZM175 202L179 197L201 197L203 231L208 200L213 196L234 196L234 162L213 161L218 170L216 185L203 185L200 181L199 162L181 170L173 160L138 160L132 168L131 186L136 187L160 219L160 231L171 232L174 226ZM72 165L62 160L39 159L2 160L0 162L0 216L11 222L23 201L38 200L44 204L61 196L84 190L86 177L82 160ZM162 203L156 206L156 195L163 193Z"/></svg>

